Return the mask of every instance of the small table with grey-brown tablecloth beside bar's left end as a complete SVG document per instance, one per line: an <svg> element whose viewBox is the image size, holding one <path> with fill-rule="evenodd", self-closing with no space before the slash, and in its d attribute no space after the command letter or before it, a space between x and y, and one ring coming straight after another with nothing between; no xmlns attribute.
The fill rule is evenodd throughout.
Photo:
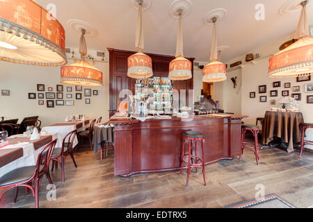
<svg viewBox="0 0 313 222"><path fill-rule="evenodd" d="M97 151L101 148L102 142L114 142L113 137L114 127L98 127L95 126L93 130L93 153L96 155Z"/></svg>

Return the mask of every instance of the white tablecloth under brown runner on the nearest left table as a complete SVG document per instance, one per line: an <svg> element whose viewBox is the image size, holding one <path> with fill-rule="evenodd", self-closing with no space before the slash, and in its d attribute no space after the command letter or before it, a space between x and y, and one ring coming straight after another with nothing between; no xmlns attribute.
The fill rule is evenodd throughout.
<svg viewBox="0 0 313 222"><path fill-rule="evenodd" d="M53 133L51 135L52 135L52 141L54 139L58 138L57 133ZM45 144L45 146L46 145L47 144ZM38 148L37 150L35 150L35 148L33 147L33 144L31 144L31 143L27 144L26 146L22 146L23 157L20 157L19 159L14 160L13 162L10 162L9 164L6 164L6 166L0 167L0 178L4 174L6 174L10 171L13 171L14 169L17 169L19 167L27 167L27 166L35 165L37 162L38 154L40 153L40 151L42 151L42 148L44 148L45 146L42 146L42 147ZM12 147L5 146L1 149L5 149L5 148L12 148Z"/></svg>

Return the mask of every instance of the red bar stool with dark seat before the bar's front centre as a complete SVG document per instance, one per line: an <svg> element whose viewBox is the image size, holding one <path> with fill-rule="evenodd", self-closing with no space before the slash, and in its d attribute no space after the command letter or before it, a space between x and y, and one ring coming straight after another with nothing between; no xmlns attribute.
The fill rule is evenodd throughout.
<svg viewBox="0 0 313 222"><path fill-rule="evenodd" d="M202 149L202 157L197 155L197 143L201 143ZM188 144L188 153L185 153L185 144ZM184 165L187 169L187 181L186 187L188 187L189 182L189 174L192 169L195 169L197 172L197 168L202 168L204 186L207 186L207 182L205 182L205 163L204 163L204 135L202 133L198 133L195 131L186 131L183 135L182 141L182 153L181 153L181 162L180 162L180 174L182 174L182 170ZM194 153L194 155L192 155Z"/></svg>

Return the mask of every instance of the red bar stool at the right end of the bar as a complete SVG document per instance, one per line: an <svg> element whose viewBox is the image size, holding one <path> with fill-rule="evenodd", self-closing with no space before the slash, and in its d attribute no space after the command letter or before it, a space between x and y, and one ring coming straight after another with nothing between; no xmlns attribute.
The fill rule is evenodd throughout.
<svg viewBox="0 0 313 222"><path fill-rule="evenodd" d="M251 133L253 134L253 137L255 137L255 143L248 143L244 142L245 140L245 133L247 130L250 130ZM259 142L257 139L257 134L259 133L259 126L253 126L253 125L242 125L241 126L241 150L240 150L240 157L239 160L241 160L241 157L243 155L243 149L248 148L253 153L255 153L255 159L257 160L257 164L259 165ZM252 145L251 146L246 146L246 145Z"/></svg>

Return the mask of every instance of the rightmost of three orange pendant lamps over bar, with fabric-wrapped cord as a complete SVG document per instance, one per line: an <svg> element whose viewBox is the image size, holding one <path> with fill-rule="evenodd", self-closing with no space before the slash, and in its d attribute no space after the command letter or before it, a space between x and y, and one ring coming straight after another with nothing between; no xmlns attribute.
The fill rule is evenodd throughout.
<svg viewBox="0 0 313 222"><path fill-rule="evenodd" d="M216 21L217 17L213 17L212 22L214 23L214 27L210 57L211 62L203 68L202 81L204 83L221 82L227 79L226 66L218 61Z"/></svg>

